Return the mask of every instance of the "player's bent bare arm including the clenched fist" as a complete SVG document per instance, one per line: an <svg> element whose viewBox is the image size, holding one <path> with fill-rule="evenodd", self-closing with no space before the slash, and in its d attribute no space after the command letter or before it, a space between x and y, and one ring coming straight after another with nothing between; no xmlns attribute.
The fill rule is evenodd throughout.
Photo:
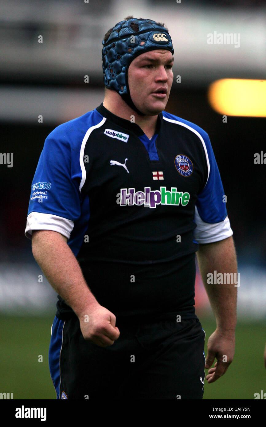
<svg viewBox="0 0 266 427"><path fill-rule="evenodd" d="M32 253L51 286L78 316L84 339L100 347L112 345L120 335L116 317L90 291L67 238L56 231L33 231Z"/></svg>

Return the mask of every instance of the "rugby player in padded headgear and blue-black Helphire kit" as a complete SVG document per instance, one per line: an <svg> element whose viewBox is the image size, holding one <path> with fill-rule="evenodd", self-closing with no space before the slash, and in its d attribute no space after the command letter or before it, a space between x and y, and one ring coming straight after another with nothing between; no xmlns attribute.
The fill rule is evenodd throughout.
<svg viewBox="0 0 266 427"><path fill-rule="evenodd" d="M208 382L234 355L236 288L206 281L237 268L219 171L206 132L164 111L174 52L164 24L129 16L102 44L104 101L47 137L25 231L58 292L57 398L202 399L198 249L217 322Z"/></svg>

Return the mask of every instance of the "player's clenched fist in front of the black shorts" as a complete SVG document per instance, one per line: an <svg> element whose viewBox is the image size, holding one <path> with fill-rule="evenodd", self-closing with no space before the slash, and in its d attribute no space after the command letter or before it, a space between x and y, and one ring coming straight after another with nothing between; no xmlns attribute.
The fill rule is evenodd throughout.
<svg viewBox="0 0 266 427"><path fill-rule="evenodd" d="M101 305L88 310L88 314L79 317L80 330L84 339L89 339L100 347L114 344L120 336L115 326L116 317L107 308Z"/></svg>

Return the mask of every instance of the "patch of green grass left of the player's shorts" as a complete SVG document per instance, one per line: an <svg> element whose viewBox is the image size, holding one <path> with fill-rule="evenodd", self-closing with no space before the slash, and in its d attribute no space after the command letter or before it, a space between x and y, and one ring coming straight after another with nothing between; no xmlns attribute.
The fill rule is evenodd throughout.
<svg viewBox="0 0 266 427"><path fill-rule="evenodd" d="M48 365L53 319L0 318L0 392L13 392L14 399L56 398Z"/></svg>

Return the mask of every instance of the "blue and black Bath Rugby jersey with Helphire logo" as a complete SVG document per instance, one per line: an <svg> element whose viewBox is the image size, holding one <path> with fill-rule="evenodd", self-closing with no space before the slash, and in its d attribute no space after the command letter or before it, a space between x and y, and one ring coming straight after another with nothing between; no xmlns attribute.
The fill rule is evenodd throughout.
<svg viewBox="0 0 266 427"><path fill-rule="evenodd" d="M25 234L66 236L116 316L194 310L195 252L233 234L208 134L162 111L149 139L103 104L48 135ZM58 296L57 316L73 311Z"/></svg>

